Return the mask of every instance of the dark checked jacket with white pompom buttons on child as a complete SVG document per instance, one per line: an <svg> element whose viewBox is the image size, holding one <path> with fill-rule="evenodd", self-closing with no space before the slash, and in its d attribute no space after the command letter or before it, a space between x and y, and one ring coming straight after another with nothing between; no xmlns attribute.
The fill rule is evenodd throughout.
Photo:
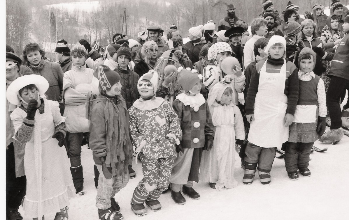
<svg viewBox="0 0 349 220"><path fill-rule="evenodd" d="M173 101L172 107L178 115L183 133L180 142L182 148L203 148L205 140L213 139L214 126L207 101L199 107L198 111L194 111L190 105L184 105L178 99ZM194 127L195 122L199 122L199 127ZM199 139L199 142L194 143L195 138Z"/></svg>

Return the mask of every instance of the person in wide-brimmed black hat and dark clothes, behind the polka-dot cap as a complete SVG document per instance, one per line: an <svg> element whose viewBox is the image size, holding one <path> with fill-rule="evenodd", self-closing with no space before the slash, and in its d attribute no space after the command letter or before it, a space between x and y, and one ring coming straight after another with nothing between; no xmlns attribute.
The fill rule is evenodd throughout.
<svg viewBox="0 0 349 220"><path fill-rule="evenodd" d="M240 66L243 68L243 60L244 57L244 47L241 45L242 33L244 33L243 27L232 27L228 31L224 33L224 36L229 38L229 45L232 50L231 56L238 59Z"/></svg>

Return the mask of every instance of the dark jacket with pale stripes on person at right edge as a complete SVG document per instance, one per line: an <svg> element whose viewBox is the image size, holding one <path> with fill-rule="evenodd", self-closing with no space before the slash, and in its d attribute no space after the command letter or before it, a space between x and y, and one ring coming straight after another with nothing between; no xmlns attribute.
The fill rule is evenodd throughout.
<svg viewBox="0 0 349 220"><path fill-rule="evenodd" d="M328 75L349 80L349 34L339 42L331 61Z"/></svg>

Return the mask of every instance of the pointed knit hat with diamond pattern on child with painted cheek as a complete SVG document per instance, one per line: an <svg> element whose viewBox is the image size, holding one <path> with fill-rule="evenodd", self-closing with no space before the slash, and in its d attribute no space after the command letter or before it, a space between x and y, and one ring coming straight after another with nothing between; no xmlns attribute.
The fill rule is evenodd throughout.
<svg viewBox="0 0 349 220"><path fill-rule="evenodd" d="M96 71L93 73L99 81L99 91L106 91L110 89L113 85L120 81L121 77L119 73L111 70L109 66L99 65Z"/></svg>

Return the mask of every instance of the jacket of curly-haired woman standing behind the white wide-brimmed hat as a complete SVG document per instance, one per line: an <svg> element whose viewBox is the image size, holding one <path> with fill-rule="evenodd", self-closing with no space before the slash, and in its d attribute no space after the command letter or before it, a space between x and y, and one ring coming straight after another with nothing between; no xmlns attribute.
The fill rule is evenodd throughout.
<svg viewBox="0 0 349 220"><path fill-rule="evenodd" d="M45 77L49 81L49 89L46 91L47 99L53 101L59 101L59 96L63 88L63 71L58 63L49 61L43 61L43 67L41 70L33 68L31 65L29 68L34 74ZM39 64L40 65L40 64Z"/></svg>

